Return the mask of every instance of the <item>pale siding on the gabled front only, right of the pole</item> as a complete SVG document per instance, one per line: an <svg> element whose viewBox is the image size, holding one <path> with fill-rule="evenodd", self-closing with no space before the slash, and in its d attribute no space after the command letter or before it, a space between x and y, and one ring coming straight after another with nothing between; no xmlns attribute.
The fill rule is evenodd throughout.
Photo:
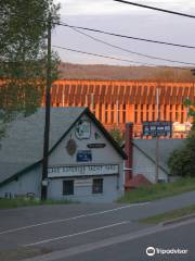
<svg viewBox="0 0 195 261"><path fill-rule="evenodd" d="M82 120L91 120L83 115ZM95 139L94 134L100 135ZM77 152L69 156L66 151L66 145L69 139L74 139L77 144L78 150L91 150L92 161L77 162ZM88 144L105 144L106 146L101 149L89 149ZM69 130L67 136L55 148L49 159L49 166L65 166L65 165L103 165L103 164L118 164L119 175L115 176L95 176L96 178L104 178L103 194L93 195L91 186L75 186L75 194L73 196L63 196L63 178L52 178L49 185L49 197L54 199L72 199L80 202L112 202L116 200L123 192L123 160L119 153L114 149L110 142L104 137L103 133L91 122L91 136L89 139L78 139L75 135L75 126ZM94 177L94 178L95 178ZM64 177L65 178L65 177ZM75 177L73 177L75 179ZM78 179L81 178L78 177ZM93 177L91 177L93 178ZM70 178L72 179L72 178Z"/></svg>

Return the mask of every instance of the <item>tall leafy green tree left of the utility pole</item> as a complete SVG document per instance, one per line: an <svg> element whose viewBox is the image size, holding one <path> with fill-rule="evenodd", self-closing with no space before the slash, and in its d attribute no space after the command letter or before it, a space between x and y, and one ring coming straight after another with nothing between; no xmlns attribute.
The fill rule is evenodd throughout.
<svg viewBox="0 0 195 261"><path fill-rule="evenodd" d="M58 9L53 0L0 2L0 137L9 121L18 113L29 115L41 104L48 20L51 16L51 22L58 21ZM57 75L57 54L53 53L53 78Z"/></svg>

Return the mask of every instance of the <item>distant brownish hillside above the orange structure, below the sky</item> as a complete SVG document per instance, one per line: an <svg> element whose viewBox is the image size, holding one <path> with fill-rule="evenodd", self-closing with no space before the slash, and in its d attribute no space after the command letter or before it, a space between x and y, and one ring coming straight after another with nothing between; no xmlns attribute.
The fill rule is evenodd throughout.
<svg viewBox="0 0 195 261"><path fill-rule="evenodd" d="M162 66L115 66L61 63L60 78L193 80L190 70Z"/></svg>

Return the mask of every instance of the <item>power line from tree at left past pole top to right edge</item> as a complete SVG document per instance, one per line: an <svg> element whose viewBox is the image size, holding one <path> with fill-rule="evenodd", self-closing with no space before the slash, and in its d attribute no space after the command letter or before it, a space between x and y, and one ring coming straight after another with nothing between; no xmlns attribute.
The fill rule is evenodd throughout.
<svg viewBox="0 0 195 261"><path fill-rule="evenodd" d="M4 12L0 12L0 14L4 14ZM27 17L27 16L25 16L25 15L21 15L21 14L14 14L14 15L16 15L16 16L18 16L18 17L29 18L29 17ZM35 20L35 18L30 18L30 20L37 21L37 22L41 22L41 23L47 23L47 21L41 20L41 18L36 18L36 20ZM160 40L153 40L153 39L148 39L148 38L134 37L134 36L127 36L127 35L121 35L121 34L105 32L105 30L95 29L95 28L89 28L89 27L83 27L83 26L69 25L69 24L63 23L63 22L52 22L52 24L53 24L53 25L57 25L57 26L65 26L65 27L69 27L69 28L77 28L77 29L82 29L82 30L89 30L89 32L100 33L100 34L109 35L109 36L116 36L116 37L120 37L120 38L132 39L132 40L146 41L146 42L153 42L153 44L158 44L158 45L172 46L172 47L178 47L178 48L195 49L195 46L181 45L181 44L174 44L174 42L168 42L168 41L160 41Z"/></svg>

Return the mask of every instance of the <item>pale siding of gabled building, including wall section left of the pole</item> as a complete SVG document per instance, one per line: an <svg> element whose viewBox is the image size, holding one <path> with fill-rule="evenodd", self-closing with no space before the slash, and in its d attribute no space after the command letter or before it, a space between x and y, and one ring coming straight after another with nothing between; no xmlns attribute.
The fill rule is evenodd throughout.
<svg viewBox="0 0 195 261"><path fill-rule="evenodd" d="M91 120L83 115L82 120ZM95 133L100 135L95 139ZM58 137L61 138L61 137ZM74 139L77 144L77 150L74 156L69 156L66 146L69 139ZM104 148L89 149L88 144L105 144ZM90 150L92 153L92 161L90 162L77 162L77 151ZM72 199L80 202L112 202L116 200L123 192L123 159L116 151L113 145L104 137L103 133L91 122L91 136L89 139L78 139L75 135L75 126L69 130L66 137L57 145L49 157L49 167L57 166L78 166L78 165L105 165L117 164L119 166L118 174L109 175L95 175L88 178L103 178L103 194L92 194L92 184L84 186L75 186L75 194L73 196L63 196L63 179L50 178L48 187L48 198L50 199ZM106 173L105 173L106 174ZM107 173L108 174L108 173ZM83 176L74 177L75 181L83 178ZM4 197L5 192L12 195L26 195L27 192L34 192L36 197L40 197L41 190L41 166L35 167L28 173L18 177L17 181L13 181L8 185L0 188L0 197Z"/></svg>

